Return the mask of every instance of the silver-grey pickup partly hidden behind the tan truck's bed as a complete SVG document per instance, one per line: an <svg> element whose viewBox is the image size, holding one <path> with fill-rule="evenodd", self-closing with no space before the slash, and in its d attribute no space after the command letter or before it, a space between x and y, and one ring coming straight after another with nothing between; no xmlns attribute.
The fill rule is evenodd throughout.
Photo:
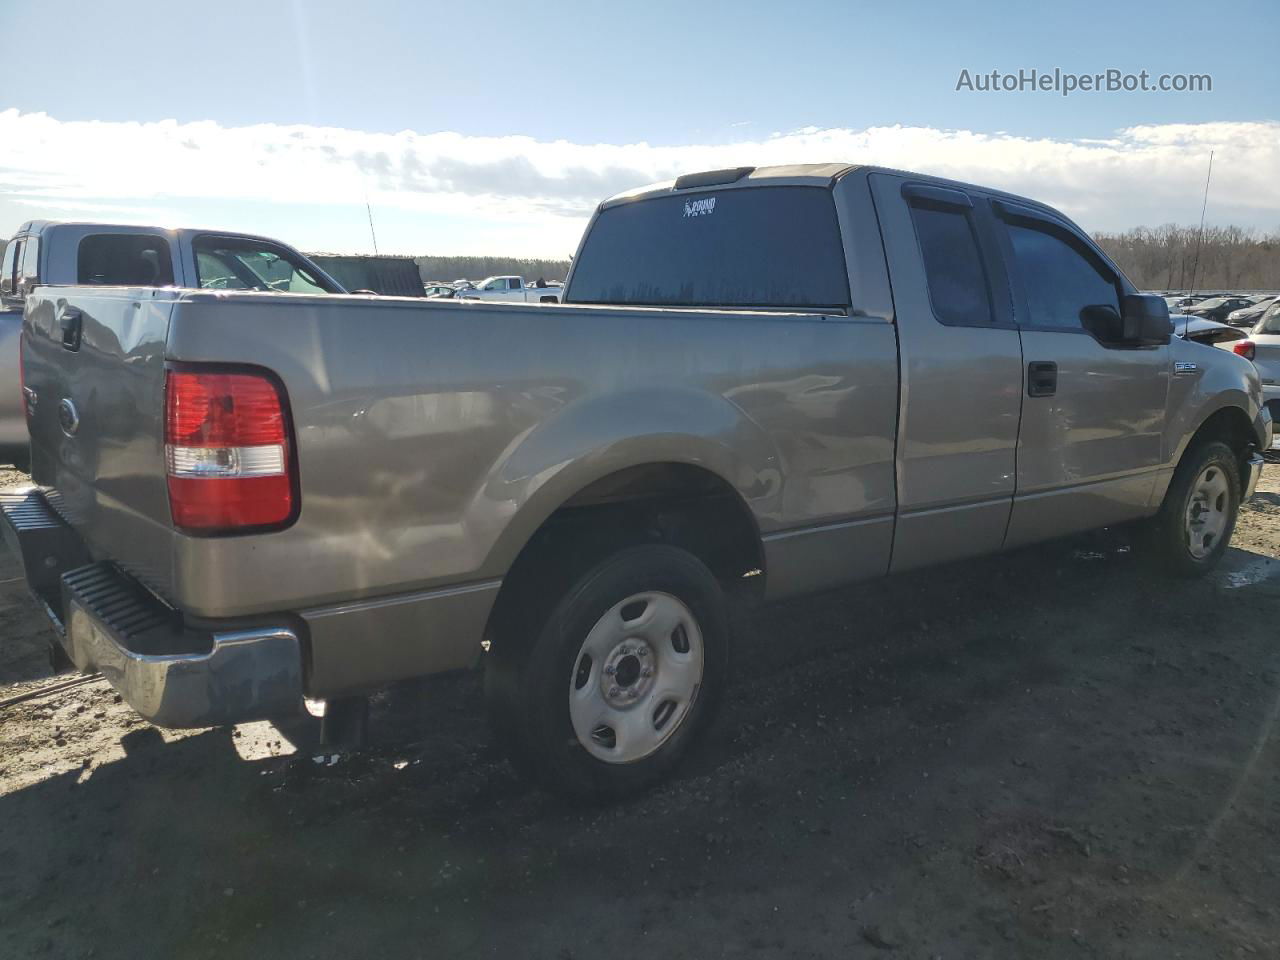
<svg viewBox="0 0 1280 960"><path fill-rule="evenodd" d="M28 220L0 259L0 462L27 467L18 332L41 284L197 287L343 293L296 250L244 233Z"/></svg>

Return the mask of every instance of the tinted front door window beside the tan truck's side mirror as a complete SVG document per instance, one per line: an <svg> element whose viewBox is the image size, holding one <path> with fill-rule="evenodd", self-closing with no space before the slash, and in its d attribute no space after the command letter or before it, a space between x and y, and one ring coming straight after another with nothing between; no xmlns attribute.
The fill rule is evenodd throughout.
<svg viewBox="0 0 1280 960"><path fill-rule="evenodd" d="M1110 306L1120 314L1115 276L1070 241L1070 234L1044 224L1010 223L1009 239L1019 279L1027 291L1028 326L1084 329L1080 311Z"/></svg>

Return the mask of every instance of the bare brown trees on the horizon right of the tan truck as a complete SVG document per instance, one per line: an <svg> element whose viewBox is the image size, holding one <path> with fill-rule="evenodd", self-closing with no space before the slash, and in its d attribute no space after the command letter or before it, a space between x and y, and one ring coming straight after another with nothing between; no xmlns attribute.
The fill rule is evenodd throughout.
<svg viewBox="0 0 1280 960"><path fill-rule="evenodd" d="M1280 289L1280 230L1165 224L1093 239L1139 289Z"/></svg>

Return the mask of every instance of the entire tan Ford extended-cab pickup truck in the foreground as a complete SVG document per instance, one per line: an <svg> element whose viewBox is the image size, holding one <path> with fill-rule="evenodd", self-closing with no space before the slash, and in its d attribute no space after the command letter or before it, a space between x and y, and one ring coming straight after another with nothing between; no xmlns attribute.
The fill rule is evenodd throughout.
<svg viewBox="0 0 1280 960"><path fill-rule="evenodd" d="M483 659L517 763L618 795L709 722L726 585L1126 521L1199 573L1271 442L1248 361L1171 339L1061 214L963 183L637 189L564 300L36 289L35 486L5 516L70 659L161 726Z"/></svg>

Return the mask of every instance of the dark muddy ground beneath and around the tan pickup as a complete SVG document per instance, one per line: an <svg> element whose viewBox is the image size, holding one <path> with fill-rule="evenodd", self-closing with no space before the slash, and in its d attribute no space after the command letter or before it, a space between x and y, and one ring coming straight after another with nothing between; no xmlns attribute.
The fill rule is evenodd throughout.
<svg viewBox="0 0 1280 960"><path fill-rule="evenodd" d="M476 677L374 742L0 709L0 956L1280 956L1280 467L1212 580L1097 535L740 611L673 782L568 809ZM0 699L46 686L0 567Z"/></svg>

